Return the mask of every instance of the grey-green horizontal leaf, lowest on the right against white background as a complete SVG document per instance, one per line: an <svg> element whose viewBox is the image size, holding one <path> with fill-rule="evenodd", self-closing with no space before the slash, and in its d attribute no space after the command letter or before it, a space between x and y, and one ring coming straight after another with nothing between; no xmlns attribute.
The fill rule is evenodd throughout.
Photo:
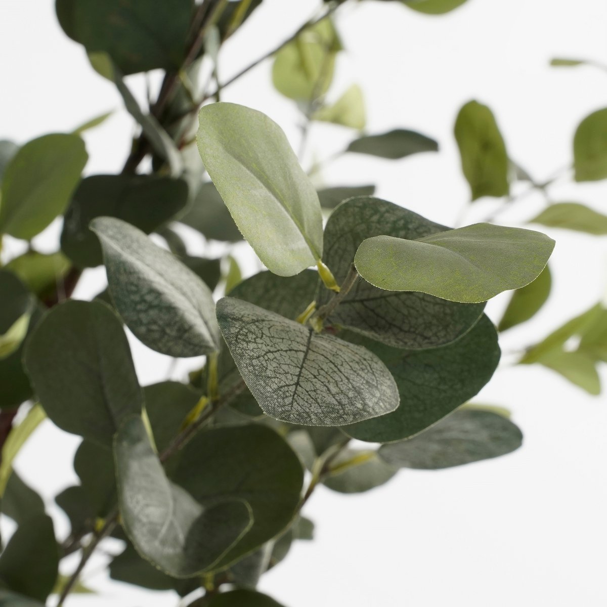
<svg viewBox="0 0 607 607"><path fill-rule="evenodd" d="M379 455L392 466L438 470L506 455L522 442L521 431L509 419L461 409L426 432L380 447Z"/></svg>

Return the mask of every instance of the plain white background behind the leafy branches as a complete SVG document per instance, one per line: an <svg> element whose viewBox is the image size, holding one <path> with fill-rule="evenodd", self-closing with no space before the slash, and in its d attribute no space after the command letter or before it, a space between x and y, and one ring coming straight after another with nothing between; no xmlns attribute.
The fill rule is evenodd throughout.
<svg viewBox="0 0 607 607"><path fill-rule="evenodd" d="M276 46L316 8L314 0L265 0L222 50L222 78ZM607 105L606 73L548 67L552 56L607 62L603 0L469 0L438 18L398 2L365 1L343 7L337 26L347 53L329 98L356 81L365 92L368 132L418 129L438 139L441 151L402 161L343 158L324 172L325 182L376 183L381 197L442 223L455 223L469 198L452 135L463 103L475 98L493 109L510 155L539 180L571 163L575 126ZM0 138L24 143L117 109L86 134L86 172L120 170L132 121L81 47L61 32L51 0L0 1L0 58ZM250 72L225 90L223 100L263 110L297 149L297 113L271 89L270 67L265 62ZM129 85L143 90L137 76ZM307 162L330 156L352 136L340 127L315 126ZM572 186L565 179L552 194L607 212L607 187L600 183ZM529 219L542 205L533 195L524 201L500 221ZM494 205L475 203L464 223L483 219ZM605 293L606 239L549 232L557 239L554 290L537 319L504 335L505 351L534 343ZM49 246L57 233L52 226L39 246ZM16 251L14 243L7 246ZM90 274L76 296L103 286L103 271ZM500 297L490 303L494 320L503 305ZM164 379L168 359L131 341L141 381ZM444 472L401 472L364 495L321 487L305 509L316 521L316 539L296 544L260 588L288 607L606 605L606 399L586 396L541 367L508 365L511 360L504 356L475 400L512 410L525 435L521 450ZM67 523L52 509L52 498L75 480L70 461L78 439L50 422L37 432L18 469L41 490L63 534ZM177 603L171 593L108 585L104 562L93 560L85 575L101 595L72 597L69 605ZM75 563L67 565L69 572Z"/></svg>

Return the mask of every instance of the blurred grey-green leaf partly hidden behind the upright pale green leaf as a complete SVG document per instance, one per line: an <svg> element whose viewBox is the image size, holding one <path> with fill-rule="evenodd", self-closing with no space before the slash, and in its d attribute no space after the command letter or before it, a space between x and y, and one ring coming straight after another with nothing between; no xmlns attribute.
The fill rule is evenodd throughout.
<svg viewBox="0 0 607 607"><path fill-rule="evenodd" d="M242 234L212 181L200 186L194 202L185 214L181 215L179 221L197 229L212 240L226 242L242 240Z"/></svg>

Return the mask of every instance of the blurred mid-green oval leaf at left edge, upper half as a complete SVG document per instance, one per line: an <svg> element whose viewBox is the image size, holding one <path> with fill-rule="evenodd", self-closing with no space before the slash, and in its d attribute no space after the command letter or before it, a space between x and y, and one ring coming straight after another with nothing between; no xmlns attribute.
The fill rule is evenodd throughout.
<svg viewBox="0 0 607 607"><path fill-rule="evenodd" d="M66 209L87 158L78 135L44 135L26 143L4 172L0 232L30 240L46 228Z"/></svg>

